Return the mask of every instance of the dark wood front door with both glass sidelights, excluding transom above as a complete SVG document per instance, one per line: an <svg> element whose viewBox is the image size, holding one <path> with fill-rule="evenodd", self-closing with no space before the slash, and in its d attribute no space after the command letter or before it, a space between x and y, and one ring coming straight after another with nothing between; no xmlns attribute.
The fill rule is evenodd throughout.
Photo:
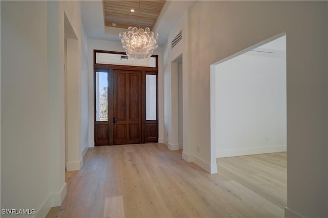
<svg viewBox="0 0 328 218"><path fill-rule="evenodd" d="M157 88L152 89L156 92L156 117L147 120L147 75L156 77L157 87L157 72L140 67L95 68L95 146L158 141Z"/></svg>

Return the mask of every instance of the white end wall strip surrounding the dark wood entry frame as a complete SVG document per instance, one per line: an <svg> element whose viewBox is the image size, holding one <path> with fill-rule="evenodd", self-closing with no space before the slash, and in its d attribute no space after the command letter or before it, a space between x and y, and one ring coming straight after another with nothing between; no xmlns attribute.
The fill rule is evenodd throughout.
<svg viewBox="0 0 328 218"><path fill-rule="evenodd" d="M94 99L93 99L93 50L124 52L120 41L88 39L88 119L89 119L89 147L94 146ZM158 142L163 142L163 48L158 46L154 51L158 55Z"/></svg>

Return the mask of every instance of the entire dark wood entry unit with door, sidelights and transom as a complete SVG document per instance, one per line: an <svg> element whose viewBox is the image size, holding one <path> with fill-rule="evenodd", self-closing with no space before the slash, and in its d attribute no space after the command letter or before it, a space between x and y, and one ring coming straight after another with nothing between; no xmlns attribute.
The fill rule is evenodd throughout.
<svg viewBox="0 0 328 218"><path fill-rule="evenodd" d="M158 56L94 50L95 146L158 142Z"/></svg>

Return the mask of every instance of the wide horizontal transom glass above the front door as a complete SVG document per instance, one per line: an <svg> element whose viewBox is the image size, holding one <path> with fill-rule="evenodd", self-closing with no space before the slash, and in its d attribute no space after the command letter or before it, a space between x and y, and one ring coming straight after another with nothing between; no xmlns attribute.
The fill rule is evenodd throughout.
<svg viewBox="0 0 328 218"><path fill-rule="evenodd" d="M136 60L126 55L96 52L96 63L156 68L156 57Z"/></svg>

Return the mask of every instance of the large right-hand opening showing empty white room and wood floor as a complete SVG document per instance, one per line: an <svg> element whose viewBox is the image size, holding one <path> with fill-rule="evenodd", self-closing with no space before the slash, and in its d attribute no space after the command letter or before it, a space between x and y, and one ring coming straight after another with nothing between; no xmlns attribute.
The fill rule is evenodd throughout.
<svg viewBox="0 0 328 218"><path fill-rule="evenodd" d="M281 211L286 131L285 33L211 65L211 162Z"/></svg>

